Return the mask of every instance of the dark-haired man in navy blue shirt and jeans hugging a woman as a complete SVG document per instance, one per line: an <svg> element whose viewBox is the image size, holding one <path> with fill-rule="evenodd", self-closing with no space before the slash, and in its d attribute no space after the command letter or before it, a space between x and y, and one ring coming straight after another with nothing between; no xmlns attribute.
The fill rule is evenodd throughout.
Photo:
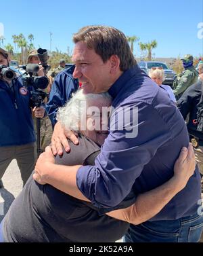
<svg viewBox="0 0 203 256"><path fill-rule="evenodd" d="M84 92L108 91L113 98L110 134L95 166L64 166L58 171L53 156L44 153L33 177L70 196L90 200L104 214L132 187L138 195L168 181L189 138L181 113L168 94L139 69L122 32L108 26L86 26L73 40L73 76ZM59 123L53 133L53 153L60 152L60 141L68 147L61 131ZM141 225L131 225L126 240L198 242L203 226L200 200L196 168L187 186L160 213Z"/></svg>

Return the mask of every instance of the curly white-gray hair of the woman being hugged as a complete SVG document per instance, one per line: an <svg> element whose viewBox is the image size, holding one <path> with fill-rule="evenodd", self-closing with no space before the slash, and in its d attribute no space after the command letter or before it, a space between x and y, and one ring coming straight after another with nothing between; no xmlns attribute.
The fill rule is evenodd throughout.
<svg viewBox="0 0 203 256"><path fill-rule="evenodd" d="M112 101L112 97L108 92L102 92L99 94L84 94L83 89L78 90L72 94L72 98L68 100L68 103L64 107L58 109L56 119L62 124L62 126L68 130L80 130L81 114L86 117L86 105L89 100L97 100L98 98Z"/></svg>

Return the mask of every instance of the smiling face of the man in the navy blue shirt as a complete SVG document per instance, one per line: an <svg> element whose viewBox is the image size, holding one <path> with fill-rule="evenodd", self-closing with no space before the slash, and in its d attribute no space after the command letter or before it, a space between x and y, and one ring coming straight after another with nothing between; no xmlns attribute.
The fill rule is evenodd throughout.
<svg viewBox="0 0 203 256"><path fill-rule="evenodd" d="M114 56L112 56L114 58ZM79 41L74 47L72 61L75 63L74 78L81 82L83 91L87 93L107 92L115 77L112 58L105 63L95 50L87 48L86 43Z"/></svg>

